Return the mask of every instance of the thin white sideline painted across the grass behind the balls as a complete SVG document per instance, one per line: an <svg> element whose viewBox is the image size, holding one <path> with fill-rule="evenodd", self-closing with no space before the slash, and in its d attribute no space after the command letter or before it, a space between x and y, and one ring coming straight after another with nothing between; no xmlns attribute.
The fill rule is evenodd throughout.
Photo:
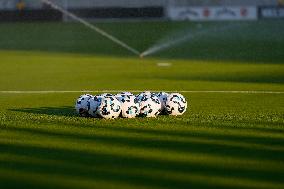
<svg viewBox="0 0 284 189"><path fill-rule="evenodd" d="M115 93L121 91L129 91L139 93L139 90L83 90L83 91L0 91L0 94L53 94L53 93ZM159 90L157 90L159 91ZM235 93L235 94L284 94L284 91L167 91L170 93Z"/></svg>

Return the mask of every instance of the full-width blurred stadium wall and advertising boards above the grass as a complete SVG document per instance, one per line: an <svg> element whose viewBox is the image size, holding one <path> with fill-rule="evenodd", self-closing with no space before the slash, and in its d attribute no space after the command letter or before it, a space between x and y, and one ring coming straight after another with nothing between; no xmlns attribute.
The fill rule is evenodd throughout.
<svg viewBox="0 0 284 189"><path fill-rule="evenodd" d="M52 0L86 19L240 20L280 18L283 0ZM20 11L20 12L19 12ZM40 0L0 0L0 21L67 21Z"/></svg>

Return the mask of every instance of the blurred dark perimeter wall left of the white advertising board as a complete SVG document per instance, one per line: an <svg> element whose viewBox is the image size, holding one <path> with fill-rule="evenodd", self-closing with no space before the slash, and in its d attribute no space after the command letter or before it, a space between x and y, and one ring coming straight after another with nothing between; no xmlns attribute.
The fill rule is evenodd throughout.
<svg viewBox="0 0 284 189"><path fill-rule="evenodd" d="M0 21L60 21L69 19L40 0L0 0ZM52 0L85 19L164 19L164 0ZM40 12L41 11L41 12Z"/></svg>

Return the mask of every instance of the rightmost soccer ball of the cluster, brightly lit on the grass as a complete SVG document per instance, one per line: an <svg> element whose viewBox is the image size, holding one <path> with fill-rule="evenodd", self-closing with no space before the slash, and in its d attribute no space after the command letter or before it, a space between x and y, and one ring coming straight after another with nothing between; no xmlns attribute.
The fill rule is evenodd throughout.
<svg viewBox="0 0 284 189"><path fill-rule="evenodd" d="M166 110L169 115L182 115L186 112L187 109L187 101L179 93L169 94L166 101Z"/></svg>

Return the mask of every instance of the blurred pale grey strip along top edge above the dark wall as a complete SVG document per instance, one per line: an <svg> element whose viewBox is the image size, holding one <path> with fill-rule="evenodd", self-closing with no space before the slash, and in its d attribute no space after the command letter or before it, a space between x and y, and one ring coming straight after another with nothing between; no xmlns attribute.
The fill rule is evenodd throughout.
<svg viewBox="0 0 284 189"><path fill-rule="evenodd" d="M41 0L22 0L26 9L41 9ZM164 7L169 6L268 6L280 0L51 0L68 9L99 7ZM0 10L16 10L19 0L0 0Z"/></svg>

